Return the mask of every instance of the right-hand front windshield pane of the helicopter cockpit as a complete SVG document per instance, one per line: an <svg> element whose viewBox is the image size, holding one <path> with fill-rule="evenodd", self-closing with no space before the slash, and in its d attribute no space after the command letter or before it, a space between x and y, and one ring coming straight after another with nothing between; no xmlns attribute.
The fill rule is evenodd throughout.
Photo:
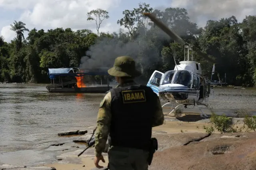
<svg viewBox="0 0 256 170"><path fill-rule="evenodd" d="M188 88L191 88L192 75L187 70L178 70L176 71L172 83L184 85Z"/></svg>

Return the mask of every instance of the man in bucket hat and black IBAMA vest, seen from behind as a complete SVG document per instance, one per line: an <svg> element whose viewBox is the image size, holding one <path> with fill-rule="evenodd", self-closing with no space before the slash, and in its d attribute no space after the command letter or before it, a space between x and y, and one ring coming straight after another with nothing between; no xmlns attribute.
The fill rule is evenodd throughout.
<svg viewBox="0 0 256 170"><path fill-rule="evenodd" d="M119 85L106 94L100 103L95 135L95 158L105 162L102 152L109 134L110 170L148 170L149 143L152 127L162 125L164 114L156 93L138 85L140 75L131 57L117 57L108 73Z"/></svg>

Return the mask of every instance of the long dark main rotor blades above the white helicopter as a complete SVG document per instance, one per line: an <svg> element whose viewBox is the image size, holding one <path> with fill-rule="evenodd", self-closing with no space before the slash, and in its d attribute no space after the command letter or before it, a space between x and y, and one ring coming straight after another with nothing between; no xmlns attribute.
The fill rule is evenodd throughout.
<svg viewBox="0 0 256 170"><path fill-rule="evenodd" d="M182 40L182 38L180 38L180 36L178 36L176 33L174 33L172 30L170 30L170 28L168 28L168 26L166 26L163 22L161 22L153 14L151 14L149 12L144 12L143 15L150 18L150 20L152 20L159 28L161 28L166 34L168 34L168 36L173 38L176 42L180 43L181 45L188 45L189 46L188 43L186 43L184 40ZM202 53L197 48L195 48L195 49L193 48L193 51L198 53L198 55L202 56L204 59L214 63L214 59L210 58L208 54Z"/></svg>

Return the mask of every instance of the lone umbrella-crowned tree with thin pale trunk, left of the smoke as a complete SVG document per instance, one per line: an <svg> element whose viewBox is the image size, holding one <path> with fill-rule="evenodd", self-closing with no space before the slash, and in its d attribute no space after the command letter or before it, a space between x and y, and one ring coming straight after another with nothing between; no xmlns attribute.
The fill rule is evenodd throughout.
<svg viewBox="0 0 256 170"><path fill-rule="evenodd" d="M91 10L90 12L87 13L87 20L92 21L94 20L96 22L96 30L97 30L97 35L99 36L99 29L100 29L100 24L102 21L106 18L108 19L108 12L106 10L102 10L98 8L97 10Z"/></svg>

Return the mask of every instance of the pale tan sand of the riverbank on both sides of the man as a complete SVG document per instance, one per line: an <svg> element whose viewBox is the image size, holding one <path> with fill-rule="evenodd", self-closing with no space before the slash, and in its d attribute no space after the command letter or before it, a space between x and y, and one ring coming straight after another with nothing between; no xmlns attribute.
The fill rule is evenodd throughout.
<svg viewBox="0 0 256 170"><path fill-rule="evenodd" d="M186 119L185 121L190 122L184 122L179 121L171 116L165 116L166 121L163 125L159 127L154 127L152 135L160 135L162 133L164 134L177 134L177 133L205 133L204 126L209 126L209 120L201 120L197 121L196 119L200 119L200 116L198 114L192 114L192 115L182 115L183 119ZM184 118L185 117L185 118ZM196 122L192 122L195 121ZM94 149L90 150L89 154L83 154L79 158L77 158L77 154L81 152L82 150L76 150L75 152L72 152L70 155L62 155L63 158L70 158L69 160L61 160L58 162L54 162L52 164L46 164L44 166L47 167L55 167L56 170L91 170L94 168L94 156L93 152ZM62 158L61 157L61 158ZM71 159L73 158L73 159ZM100 162L101 166L107 166L108 157L104 156L106 163ZM97 169L97 168L95 168Z"/></svg>

